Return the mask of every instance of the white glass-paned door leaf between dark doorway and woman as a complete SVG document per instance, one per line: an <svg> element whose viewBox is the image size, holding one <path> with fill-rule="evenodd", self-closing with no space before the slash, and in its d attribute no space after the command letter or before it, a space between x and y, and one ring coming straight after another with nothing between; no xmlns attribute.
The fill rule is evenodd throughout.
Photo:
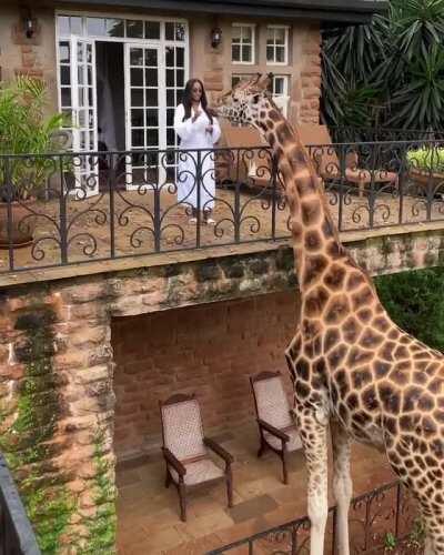
<svg viewBox="0 0 444 555"><path fill-rule="evenodd" d="M127 188L163 182L158 150L167 144L164 61L160 46L127 43L125 142ZM140 151L140 153L138 152Z"/></svg>

